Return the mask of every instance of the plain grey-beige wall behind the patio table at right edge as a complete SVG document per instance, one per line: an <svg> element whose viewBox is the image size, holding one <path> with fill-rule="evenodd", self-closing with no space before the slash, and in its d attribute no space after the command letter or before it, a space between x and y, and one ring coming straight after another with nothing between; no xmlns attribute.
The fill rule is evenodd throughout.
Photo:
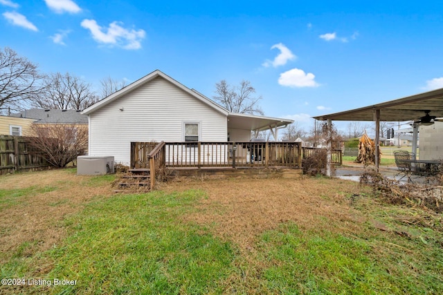
<svg viewBox="0 0 443 295"><path fill-rule="evenodd" d="M420 160L443 159L443 122L435 122L431 126L420 126L419 145Z"/></svg>

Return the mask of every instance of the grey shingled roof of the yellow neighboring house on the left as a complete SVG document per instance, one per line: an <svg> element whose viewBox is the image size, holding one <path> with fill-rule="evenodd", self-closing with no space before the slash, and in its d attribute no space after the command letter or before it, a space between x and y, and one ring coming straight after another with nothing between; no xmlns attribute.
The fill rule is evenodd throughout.
<svg viewBox="0 0 443 295"><path fill-rule="evenodd" d="M12 114L11 117L35 119L35 124L88 124L88 117L78 110L31 108Z"/></svg>

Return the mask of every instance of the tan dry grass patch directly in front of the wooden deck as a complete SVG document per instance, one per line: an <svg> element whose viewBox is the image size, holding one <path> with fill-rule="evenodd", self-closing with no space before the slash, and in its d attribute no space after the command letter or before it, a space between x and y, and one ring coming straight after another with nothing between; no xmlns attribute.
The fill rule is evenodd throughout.
<svg viewBox="0 0 443 295"><path fill-rule="evenodd" d="M349 207L347 195L365 190L355 182L327 178L228 179L176 182L165 189L197 187L208 198L199 202L199 210L184 218L212 225L213 234L233 240L247 251L253 251L258 235L282 222L296 222L301 230L316 229L321 223L323 229L326 224L333 232L357 232L359 223L365 220Z"/></svg>

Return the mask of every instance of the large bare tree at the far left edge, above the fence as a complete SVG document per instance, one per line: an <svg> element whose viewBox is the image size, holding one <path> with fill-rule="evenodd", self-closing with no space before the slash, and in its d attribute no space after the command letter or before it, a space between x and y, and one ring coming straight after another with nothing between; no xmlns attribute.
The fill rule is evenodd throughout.
<svg viewBox="0 0 443 295"><path fill-rule="evenodd" d="M30 97L42 91L43 77L26 57L8 47L0 48L0 112L23 108Z"/></svg>

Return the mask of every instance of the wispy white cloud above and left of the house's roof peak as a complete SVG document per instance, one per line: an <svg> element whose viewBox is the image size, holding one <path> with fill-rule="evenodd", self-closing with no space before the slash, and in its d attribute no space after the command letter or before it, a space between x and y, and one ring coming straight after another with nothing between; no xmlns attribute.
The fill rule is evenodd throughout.
<svg viewBox="0 0 443 295"><path fill-rule="evenodd" d="M145 38L144 30L127 30L120 26L117 21L110 23L108 28L98 26L97 22L93 19L84 19L81 25L83 28L91 31L94 40L110 46L120 46L125 49L139 49L141 48L141 40Z"/></svg>

